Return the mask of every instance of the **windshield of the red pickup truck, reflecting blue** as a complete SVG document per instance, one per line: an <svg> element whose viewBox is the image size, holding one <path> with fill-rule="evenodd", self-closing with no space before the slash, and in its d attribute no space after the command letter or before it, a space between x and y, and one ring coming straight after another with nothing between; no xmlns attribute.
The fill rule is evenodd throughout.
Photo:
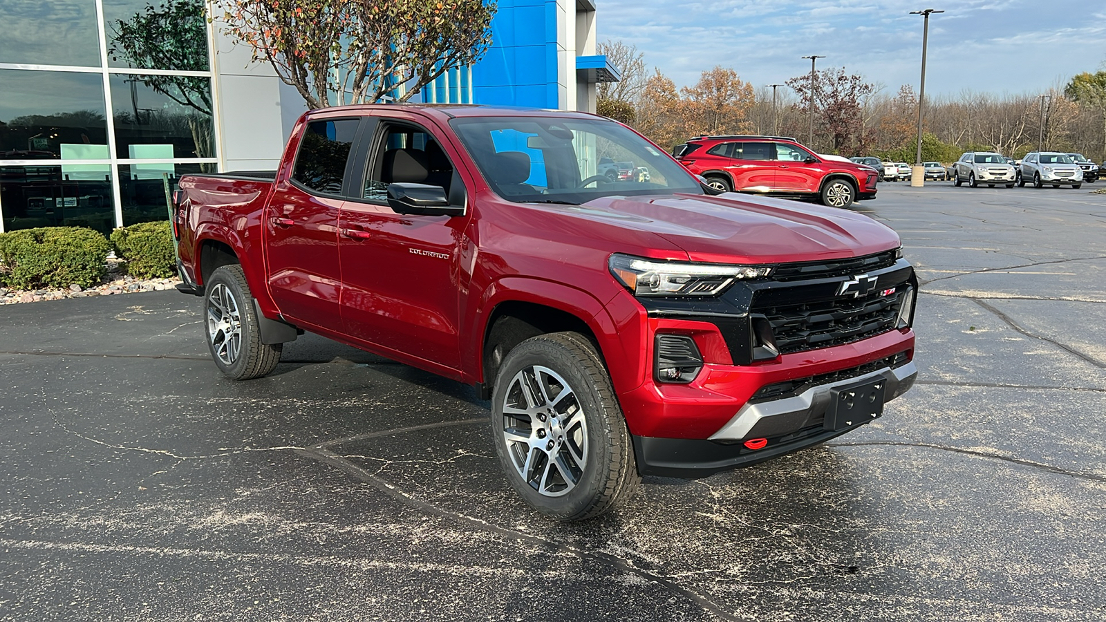
<svg viewBox="0 0 1106 622"><path fill-rule="evenodd" d="M515 203L702 194L686 168L613 121L507 116L450 125L492 189Z"/></svg>

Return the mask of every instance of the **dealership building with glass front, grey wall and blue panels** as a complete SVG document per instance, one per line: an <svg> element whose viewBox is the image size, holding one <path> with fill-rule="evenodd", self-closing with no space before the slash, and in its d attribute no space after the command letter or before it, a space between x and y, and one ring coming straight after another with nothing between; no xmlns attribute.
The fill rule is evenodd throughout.
<svg viewBox="0 0 1106 622"><path fill-rule="evenodd" d="M272 169L306 106L208 0L2 0L0 231L164 220L166 185ZM216 11L221 14L221 12ZM595 111L593 0L499 0L492 45L410 101Z"/></svg>

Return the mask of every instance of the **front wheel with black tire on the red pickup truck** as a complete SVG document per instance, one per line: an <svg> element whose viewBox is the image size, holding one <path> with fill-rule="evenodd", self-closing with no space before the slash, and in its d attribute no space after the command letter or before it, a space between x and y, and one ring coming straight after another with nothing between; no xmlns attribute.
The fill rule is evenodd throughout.
<svg viewBox="0 0 1106 622"><path fill-rule="evenodd" d="M560 400L549 395L554 391ZM625 504L641 481L606 366L580 333L538 335L507 354L492 393L491 433L511 487L552 518L599 516Z"/></svg>

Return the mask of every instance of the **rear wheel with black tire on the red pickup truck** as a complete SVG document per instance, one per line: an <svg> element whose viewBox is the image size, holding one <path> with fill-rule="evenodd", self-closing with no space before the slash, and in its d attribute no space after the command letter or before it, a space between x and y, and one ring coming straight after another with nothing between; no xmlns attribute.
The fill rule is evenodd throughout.
<svg viewBox="0 0 1106 622"><path fill-rule="evenodd" d="M261 377L280 363L282 343L261 343L253 297L242 267L220 266L204 288L204 324L208 352L233 380Z"/></svg>

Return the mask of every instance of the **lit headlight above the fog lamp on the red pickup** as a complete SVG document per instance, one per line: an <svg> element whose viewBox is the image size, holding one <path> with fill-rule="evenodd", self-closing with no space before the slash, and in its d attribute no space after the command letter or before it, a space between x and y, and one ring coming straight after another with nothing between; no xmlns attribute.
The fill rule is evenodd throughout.
<svg viewBox="0 0 1106 622"><path fill-rule="evenodd" d="M635 296L716 296L735 280L769 276L771 267L677 263L612 255L611 273Z"/></svg>

